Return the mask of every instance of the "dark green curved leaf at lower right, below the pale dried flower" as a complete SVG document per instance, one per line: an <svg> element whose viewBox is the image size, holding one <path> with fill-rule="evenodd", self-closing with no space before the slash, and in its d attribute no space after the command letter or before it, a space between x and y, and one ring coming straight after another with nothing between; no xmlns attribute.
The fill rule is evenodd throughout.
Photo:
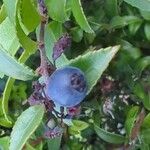
<svg viewBox="0 0 150 150"><path fill-rule="evenodd" d="M102 128L99 128L97 125L94 126L94 130L101 139L108 143L122 144L125 142L125 137L119 134L110 133Z"/></svg>

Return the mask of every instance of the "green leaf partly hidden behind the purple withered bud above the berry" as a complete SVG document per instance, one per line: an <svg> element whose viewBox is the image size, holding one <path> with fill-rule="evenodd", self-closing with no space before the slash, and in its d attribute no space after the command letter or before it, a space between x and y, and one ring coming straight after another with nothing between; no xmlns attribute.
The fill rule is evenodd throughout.
<svg viewBox="0 0 150 150"><path fill-rule="evenodd" d="M54 44L55 42L57 42L59 37L62 36L62 34L63 34L62 24L59 22L53 21L50 24L48 24L45 28L45 50L47 57L51 62L53 62L52 53ZM62 55L56 61L56 66L59 68L60 66L65 65L67 63L68 59L65 57L65 55Z"/></svg>

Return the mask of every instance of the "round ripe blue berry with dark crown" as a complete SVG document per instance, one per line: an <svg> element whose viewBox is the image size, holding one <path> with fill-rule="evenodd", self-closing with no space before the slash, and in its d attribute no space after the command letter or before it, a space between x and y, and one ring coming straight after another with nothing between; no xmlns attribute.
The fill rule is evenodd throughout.
<svg viewBox="0 0 150 150"><path fill-rule="evenodd" d="M76 67L56 70L48 80L46 95L57 104L73 107L86 96L87 82L84 73Z"/></svg>

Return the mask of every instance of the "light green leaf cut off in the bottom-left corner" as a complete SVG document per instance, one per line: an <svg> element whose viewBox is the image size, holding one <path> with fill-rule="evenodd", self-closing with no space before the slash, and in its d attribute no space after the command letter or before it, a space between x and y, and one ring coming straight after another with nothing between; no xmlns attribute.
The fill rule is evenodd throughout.
<svg viewBox="0 0 150 150"><path fill-rule="evenodd" d="M0 138L0 150L8 150L10 137L5 136Z"/></svg>

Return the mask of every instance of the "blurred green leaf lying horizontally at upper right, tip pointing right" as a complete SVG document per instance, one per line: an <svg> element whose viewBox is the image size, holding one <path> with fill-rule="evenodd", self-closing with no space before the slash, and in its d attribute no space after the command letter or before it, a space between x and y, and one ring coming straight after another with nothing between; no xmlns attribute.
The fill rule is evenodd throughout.
<svg viewBox="0 0 150 150"><path fill-rule="evenodd" d="M122 28L129 24L140 23L142 20L136 16L115 16L110 22L110 27L112 29Z"/></svg>

